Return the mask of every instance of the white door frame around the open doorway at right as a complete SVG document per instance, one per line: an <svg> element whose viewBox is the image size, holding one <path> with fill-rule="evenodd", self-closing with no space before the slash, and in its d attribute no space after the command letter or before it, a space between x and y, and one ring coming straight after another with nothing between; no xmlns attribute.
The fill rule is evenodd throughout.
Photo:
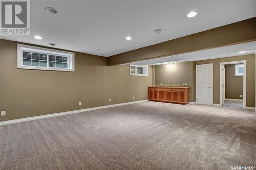
<svg viewBox="0 0 256 170"><path fill-rule="evenodd" d="M246 108L246 60L240 61L229 61L229 62L222 62L220 63L220 106L223 105L223 93L222 93L222 84L224 79L225 72L222 71L222 67L227 64L243 64L244 65L244 76L243 76L243 108ZM224 80L225 81L225 80Z"/></svg>

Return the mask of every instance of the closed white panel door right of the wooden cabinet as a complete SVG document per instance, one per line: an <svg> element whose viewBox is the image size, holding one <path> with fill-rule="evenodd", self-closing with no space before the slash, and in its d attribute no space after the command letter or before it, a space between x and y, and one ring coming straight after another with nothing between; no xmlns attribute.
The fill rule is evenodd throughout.
<svg viewBox="0 0 256 170"><path fill-rule="evenodd" d="M197 70L197 103L212 104L212 64L196 66Z"/></svg>

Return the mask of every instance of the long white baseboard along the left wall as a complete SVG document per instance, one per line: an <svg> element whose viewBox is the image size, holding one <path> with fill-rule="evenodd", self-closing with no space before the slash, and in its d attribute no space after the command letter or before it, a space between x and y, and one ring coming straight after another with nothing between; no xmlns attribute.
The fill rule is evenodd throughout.
<svg viewBox="0 0 256 170"><path fill-rule="evenodd" d="M8 124L15 124L15 123L19 123L19 122L27 122L27 121L30 121L30 120L36 120L36 119L42 119L42 118L48 118L48 117L55 117L55 116L62 116L62 115L67 115L67 114L88 112L88 111L92 111L92 110L98 110L98 109L104 109L104 108L110 108L110 107L117 107L117 106L123 106L123 105L131 105L131 104L147 102L147 101L148 100L142 100L142 101L136 101L136 102L127 102L127 103L120 103L120 104L114 104L114 105L106 105L106 106L93 107L93 108L88 108L88 109L72 110L72 111L67 111L67 112L45 114L45 115L41 115L41 116L33 116L33 117L26 117L26 118L7 120L7 121L0 122L0 126L8 125Z"/></svg>

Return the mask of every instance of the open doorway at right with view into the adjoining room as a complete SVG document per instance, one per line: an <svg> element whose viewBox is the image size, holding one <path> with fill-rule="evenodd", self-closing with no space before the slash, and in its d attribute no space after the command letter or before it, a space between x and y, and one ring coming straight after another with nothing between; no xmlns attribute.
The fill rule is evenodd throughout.
<svg viewBox="0 0 256 170"><path fill-rule="evenodd" d="M246 108L246 61L220 63L220 104Z"/></svg>

